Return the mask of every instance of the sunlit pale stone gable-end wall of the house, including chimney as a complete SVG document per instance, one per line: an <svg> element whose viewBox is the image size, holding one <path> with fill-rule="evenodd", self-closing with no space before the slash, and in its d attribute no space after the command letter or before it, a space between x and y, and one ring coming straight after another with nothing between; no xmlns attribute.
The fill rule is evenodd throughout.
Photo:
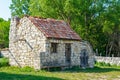
<svg viewBox="0 0 120 80"><path fill-rule="evenodd" d="M11 20L9 40L10 65L40 69L40 52L45 52L46 38L27 17L19 24Z"/></svg>

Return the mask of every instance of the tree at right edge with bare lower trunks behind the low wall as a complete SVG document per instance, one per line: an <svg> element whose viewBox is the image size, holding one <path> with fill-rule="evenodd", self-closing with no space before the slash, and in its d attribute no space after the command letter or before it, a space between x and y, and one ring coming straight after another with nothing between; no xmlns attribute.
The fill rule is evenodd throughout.
<svg viewBox="0 0 120 80"><path fill-rule="evenodd" d="M108 2L104 13L103 32L108 36L106 54L120 56L120 1Z"/></svg>

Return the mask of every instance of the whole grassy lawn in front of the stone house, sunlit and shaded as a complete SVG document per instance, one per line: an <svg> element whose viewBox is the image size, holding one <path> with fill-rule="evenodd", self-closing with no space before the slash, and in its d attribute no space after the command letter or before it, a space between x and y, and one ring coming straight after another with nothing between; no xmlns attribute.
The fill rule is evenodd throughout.
<svg viewBox="0 0 120 80"><path fill-rule="evenodd" d="M93 69L73 67L64 71L35 71L30 67L8 66L0 68L0 80L120 80L120 66L96 64Z"/></svg>

